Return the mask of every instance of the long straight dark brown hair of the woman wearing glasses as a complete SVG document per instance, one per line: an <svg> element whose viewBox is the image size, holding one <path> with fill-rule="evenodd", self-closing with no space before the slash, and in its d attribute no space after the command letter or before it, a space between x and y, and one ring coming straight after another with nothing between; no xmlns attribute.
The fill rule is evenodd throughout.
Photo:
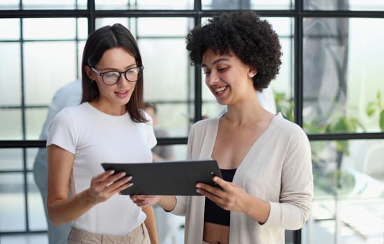
<svg viewBox="0 0 384 244"><path fill-rule="evenodd" d="M122 47L135 58L137 67L143 66L136 40L125 26L114 24L97 29L89 35L84 47L82 60L82 102L92 102L100 96L98 85L95 82L91 82L91 79L86 75L85 66L95 66L102 58L102 54L114 47ZM135 122L148 121L143 113L143 77L144 75L141 73L141 76L136 82L132 97L125 105L131 119Z"/></svg>

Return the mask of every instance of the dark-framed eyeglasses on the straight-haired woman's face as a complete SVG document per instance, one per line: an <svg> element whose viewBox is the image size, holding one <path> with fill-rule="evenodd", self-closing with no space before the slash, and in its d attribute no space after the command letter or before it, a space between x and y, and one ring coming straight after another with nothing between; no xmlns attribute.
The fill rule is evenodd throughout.
<svg viewBox="0 0 384 244"><path fill-rule="evenodd" d="M124 77L128 80L128 82L137 82L137 80L141 77L141 73L142 70L144 70L144 66L129 68L128 70L125 70L123 72L107 71L104 73L100 73L93 67L91 67L91 69L95 71L96 74L102 77L102 82L104 82L104 84L106 84L107 86L113 86L114 84L117 84L122 74L124 74Z"/></svg>

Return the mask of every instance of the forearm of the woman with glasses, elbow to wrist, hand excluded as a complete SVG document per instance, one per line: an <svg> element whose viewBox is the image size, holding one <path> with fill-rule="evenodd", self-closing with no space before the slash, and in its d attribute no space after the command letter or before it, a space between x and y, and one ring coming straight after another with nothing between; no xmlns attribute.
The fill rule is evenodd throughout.
<svg viewBox="0 0 384 244"><path fill-rule="evenodd" d="M89 197L89 190L84 190L69 199L49 201L47 200L48 217L56 225L76 220L81 215L95 206Z"/></svg>

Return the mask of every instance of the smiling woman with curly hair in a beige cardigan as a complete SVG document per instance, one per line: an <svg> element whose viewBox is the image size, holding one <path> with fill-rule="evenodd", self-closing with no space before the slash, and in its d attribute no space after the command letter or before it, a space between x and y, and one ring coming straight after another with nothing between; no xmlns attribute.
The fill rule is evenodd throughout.
<svg viewBox="0 0 384 244"><path fill-rule="evenodd" d="M253 11L223 13L187 36L192 64L227 111L194 124L188 159L217 160L222 189L197 183L203 196L132 196L185 215L185 243L284 243L300 229L313 196L309 140L295 123L260 105L256 91L279 72L279 38Z"/></svg>

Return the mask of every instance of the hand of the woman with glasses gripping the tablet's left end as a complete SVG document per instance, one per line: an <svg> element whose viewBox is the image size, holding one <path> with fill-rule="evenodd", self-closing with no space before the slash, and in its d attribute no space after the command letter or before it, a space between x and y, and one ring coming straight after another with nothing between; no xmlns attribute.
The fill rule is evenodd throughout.
<svg viewBox="0 0 384 244"><path fill-rule="evenodd" d="M89 198L94 204L107 201L121 190L129 188L132 176L125 176L125 172L114 174L113 170L107 170L91 179Z"/></svg>

